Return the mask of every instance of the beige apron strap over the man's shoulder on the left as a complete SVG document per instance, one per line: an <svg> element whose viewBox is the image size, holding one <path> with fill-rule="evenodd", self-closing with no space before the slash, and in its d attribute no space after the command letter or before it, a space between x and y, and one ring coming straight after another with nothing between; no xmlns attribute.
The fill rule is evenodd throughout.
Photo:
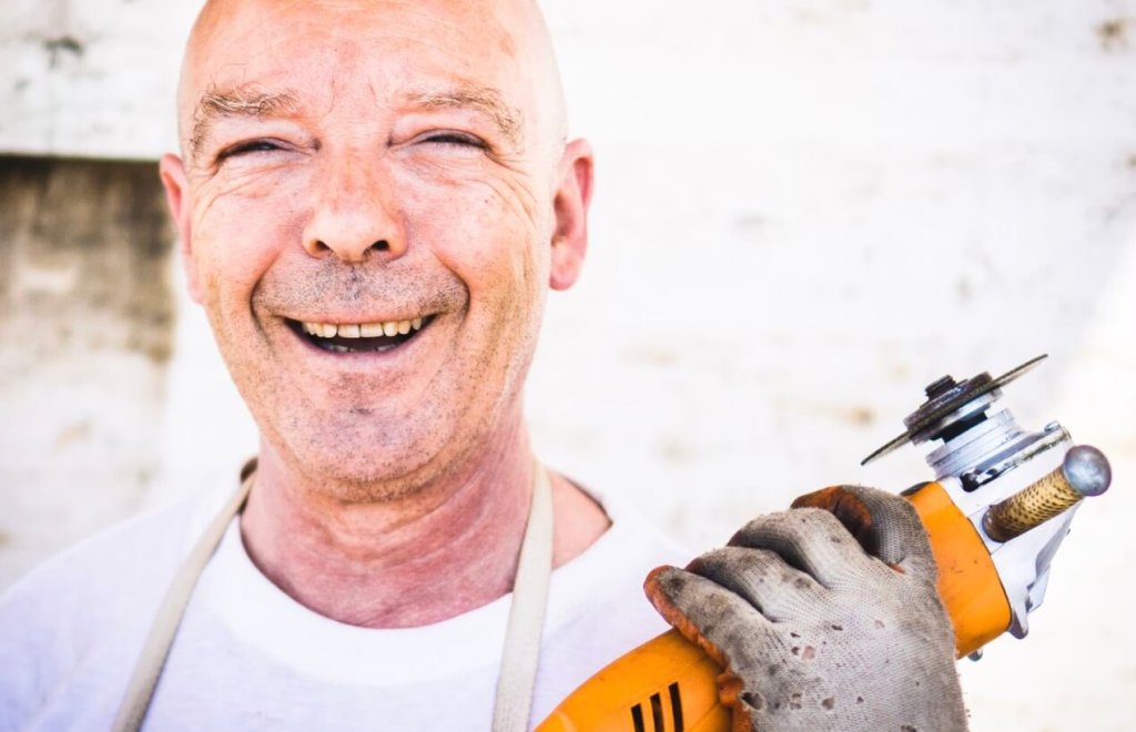
<svg viewBox="0 0 1136 732"><path fill-rule="evenodd" d="M147 709L150 708L154 687L158 685L158 678L161 676L161 668L166 665L169 647L174 642L174 636L177 633L177 626L185 614L185 606L190 601L190 596L193 595L198 578L201 577L206 564L209 563L217 545L220 544L228 524L241 512L241 507L249 497L254 476L253 471L245 477L241 487L217 513L206 532L201 535L197 546L178 567L177 575L170 583L169 590L166 591L166 598L153 619L153 625L150 626L150 634L142 647L137 665L134 666L134 675L131 676L130 685L126 688L126 696L122 706L118 707L118 715L115 717L114 726L111 726L112 732L135 732L141 729Z"/></svg>

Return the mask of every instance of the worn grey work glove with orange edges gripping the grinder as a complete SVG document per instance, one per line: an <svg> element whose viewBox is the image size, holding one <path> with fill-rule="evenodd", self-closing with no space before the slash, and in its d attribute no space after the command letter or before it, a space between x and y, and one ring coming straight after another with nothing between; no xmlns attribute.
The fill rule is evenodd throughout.
<svg viewBox="0 0 1136 732"><path fill-rule="evenodd" d="M828 488L760 516L645 589L725 668L734 730L967 729L954 634L911 504ZM852 529L850 532L849 528Z"/></svg>

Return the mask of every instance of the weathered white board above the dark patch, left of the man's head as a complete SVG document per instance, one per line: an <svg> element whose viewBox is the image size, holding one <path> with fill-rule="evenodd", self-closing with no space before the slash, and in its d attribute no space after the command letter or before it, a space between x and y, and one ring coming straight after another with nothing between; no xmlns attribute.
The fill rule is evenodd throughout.
<svg viewBox="0 0 1136 732"><path fill-rule="evenodd" d="M5 0L0 151L156 158L200 0Z"/></svg>

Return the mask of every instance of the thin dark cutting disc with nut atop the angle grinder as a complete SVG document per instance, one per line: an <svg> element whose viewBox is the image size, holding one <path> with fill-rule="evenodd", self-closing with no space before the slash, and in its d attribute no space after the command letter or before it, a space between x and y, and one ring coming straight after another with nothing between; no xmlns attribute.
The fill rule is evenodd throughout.
<svg viewBox="0 0 1136 732"><path fill-rule="evenodd" d="M907 443L918 445L930 439L945 441L966 431L985 419L986 410L1001 396L1000 389L1003 386L1033 369L1046 356L1047 354L1042 354L1030 359L996 379L991 378L986 371L963 381L955 381L950 375L936 379L925 389L927 401L904 418L903 424L908 430L864 457L860 464L867 465Z"/></svg>

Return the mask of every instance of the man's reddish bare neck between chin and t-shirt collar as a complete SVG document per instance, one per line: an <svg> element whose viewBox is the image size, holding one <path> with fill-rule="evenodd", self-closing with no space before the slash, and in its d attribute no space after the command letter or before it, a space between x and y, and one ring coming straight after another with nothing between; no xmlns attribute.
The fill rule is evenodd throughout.
<svg viewBox="0 0 1136 732"><path fill-rule="evenodd" d="M518 420L490 455L395 499L345 502L290 471L267 446L241 532L257 567L333 620L369 628L435 623L508 594L533 493ZM602 510L551 476L553 565L608 527Z"/></svg>

